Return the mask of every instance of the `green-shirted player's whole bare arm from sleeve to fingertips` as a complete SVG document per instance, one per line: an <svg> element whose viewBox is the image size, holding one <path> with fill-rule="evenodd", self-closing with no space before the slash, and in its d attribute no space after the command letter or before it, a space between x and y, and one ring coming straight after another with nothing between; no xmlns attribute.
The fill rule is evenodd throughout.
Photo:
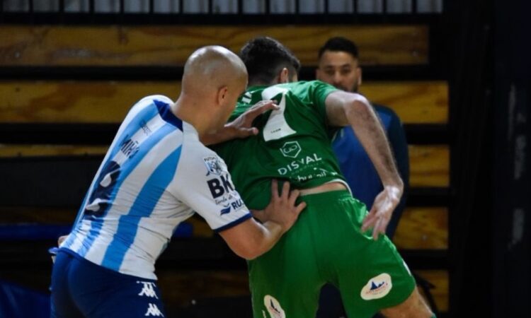
<svg viewBox="0 0 531 318"><path fill-rule="evenodd" d="M380 233L385 232L404 192L404 183L396 170L389 142L377 114L362 95L337 90L326 97L325 106L331 126L352 126L382 180L384 190L376 196L369 215L362 223L363 231L373 228L372 236L376 240Z"/></svg>

